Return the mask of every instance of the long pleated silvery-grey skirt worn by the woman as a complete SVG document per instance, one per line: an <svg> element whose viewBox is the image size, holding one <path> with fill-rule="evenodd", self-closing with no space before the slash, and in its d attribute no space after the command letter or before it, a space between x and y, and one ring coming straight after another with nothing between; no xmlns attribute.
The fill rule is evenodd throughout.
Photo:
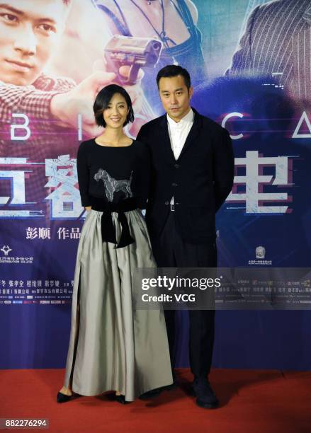
<svg viewBox="0 0 311 433"><path fill-rule="evenodd" d="M81 231L64 386L82 396L120 391L130 401L173 381L166 325L162 310L132 309L132 272L156 267L142 214L125 212L135 243L123 248L103 243L101 215L89 211Z"/></svg>

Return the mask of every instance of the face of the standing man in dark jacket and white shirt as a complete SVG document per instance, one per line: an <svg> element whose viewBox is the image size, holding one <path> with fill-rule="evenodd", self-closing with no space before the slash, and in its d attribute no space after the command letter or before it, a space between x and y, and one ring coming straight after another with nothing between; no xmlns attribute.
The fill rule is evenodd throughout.
<svg viewBox="0 0 311 433"><path fill-rule="evenodd" d="M183 76L162 77L159 80L159 94L164 110L175 122L179 122L190 109L192 87L186 87Z"/></svg>

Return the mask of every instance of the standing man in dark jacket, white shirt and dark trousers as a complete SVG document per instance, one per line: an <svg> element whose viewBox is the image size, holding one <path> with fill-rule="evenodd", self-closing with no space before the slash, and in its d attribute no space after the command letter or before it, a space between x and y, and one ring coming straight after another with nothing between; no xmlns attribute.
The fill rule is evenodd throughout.
<svg viewBox="0 0 311 433"><path fill-rule="evenodd" d="M186 69L169 65L157 75L166 115L148 122L137 139L152 156L147 226L159 267L216 267L215 213L234 177L232 143L226 129L191 108ZM174 366L174 311L165 311ZM190 364L196 403L218 404L208 382L215 311L189 311Z"/></svg>

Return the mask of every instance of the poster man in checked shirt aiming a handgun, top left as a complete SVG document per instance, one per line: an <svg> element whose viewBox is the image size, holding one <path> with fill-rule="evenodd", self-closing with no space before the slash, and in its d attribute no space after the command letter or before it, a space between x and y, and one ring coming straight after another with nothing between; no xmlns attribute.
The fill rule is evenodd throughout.
<svg viewBox="0 0 311 433"><path fill-rule="evenodd" d="M77 132L77 115L81 114L87 135L101 132L94 120L93 103L98 90L111 83L115 74L96 71L77 86L71 79L43 73L60 44L70 5L71 0L0 4L2 122L10 124L12 112L24 112L39 120L35 126L41 132L49 134L57 126Z"/></svg>

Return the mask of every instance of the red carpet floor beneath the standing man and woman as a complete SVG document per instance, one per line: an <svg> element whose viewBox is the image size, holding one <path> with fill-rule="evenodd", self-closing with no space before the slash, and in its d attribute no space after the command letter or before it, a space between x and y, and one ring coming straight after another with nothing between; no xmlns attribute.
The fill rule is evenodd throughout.
<svg viewBox="0 0 311 433"><path fill-rule="evenodd" d="M46 417L50 432L311 432L311 372L214 369L215 410L196 406L188 369L177 374L180 388L153 400L120 405L103 395L57 404L64 370L2 370L0 417Z"/></svg>

